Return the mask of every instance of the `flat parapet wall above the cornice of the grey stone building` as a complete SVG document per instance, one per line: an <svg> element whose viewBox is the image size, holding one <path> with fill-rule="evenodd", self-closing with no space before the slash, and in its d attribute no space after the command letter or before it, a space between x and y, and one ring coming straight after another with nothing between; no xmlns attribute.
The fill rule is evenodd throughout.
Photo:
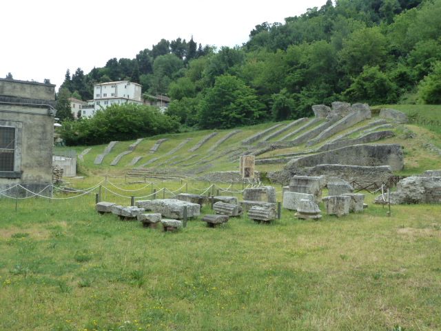
<svg viewBox="0 0 441 331"><path fill-rule="evenodd" d="M55 100L55 86L33 81L17 81L0 78L0 95L39 100Z"/></svg>

